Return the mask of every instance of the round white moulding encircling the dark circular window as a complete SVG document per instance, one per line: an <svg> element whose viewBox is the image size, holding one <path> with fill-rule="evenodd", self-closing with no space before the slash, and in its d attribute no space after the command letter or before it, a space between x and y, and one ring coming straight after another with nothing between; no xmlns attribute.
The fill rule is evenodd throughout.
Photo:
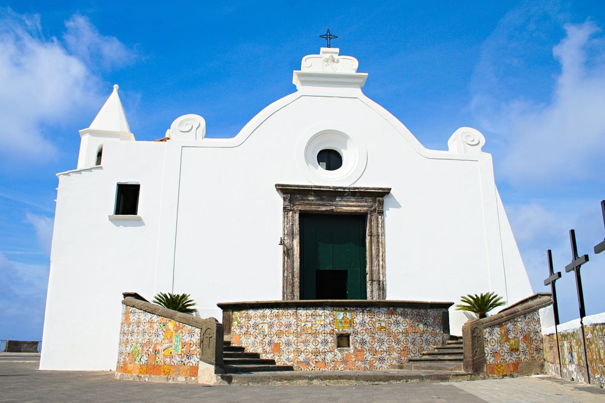
<svg viewBox="0 0 605 403"><path fill-rule="evenodd" d="M355 129L341 123L315 124L305 131L296 145L296 163L305 178L316 185L349 186L364 173L368 152ZM336 150L342 166L325 170L317 162L321 150Z"/></svg>

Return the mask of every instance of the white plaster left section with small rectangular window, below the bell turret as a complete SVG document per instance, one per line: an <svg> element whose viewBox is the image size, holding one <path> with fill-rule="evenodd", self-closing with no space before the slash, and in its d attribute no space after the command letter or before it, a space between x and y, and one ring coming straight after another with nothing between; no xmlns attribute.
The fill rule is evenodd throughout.
<svg viewBox="0 0 605 403"><path fill-rule="evenodd" d="M102 167L59 176L41 369L115 369L122 292L155 291L164 149L112 141ZM126 181L141 184L142 221L108 219Z"/></svg>

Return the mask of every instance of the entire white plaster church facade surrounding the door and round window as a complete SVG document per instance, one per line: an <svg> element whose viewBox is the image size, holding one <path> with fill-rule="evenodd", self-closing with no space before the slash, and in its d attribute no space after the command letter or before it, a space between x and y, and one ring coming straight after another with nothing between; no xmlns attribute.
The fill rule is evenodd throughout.
<svg viewBox="0 0 605 403"><path fill-rule="evenodd" d="M219 320L218 302L281 299L275 184L311 184L296 144L318 124L348 127L367 150L351 185L392 188L387 298L531 294L490 155L425 150L361 91L308 94L273 103L233 139L110 141L102 167L60 175L41 369L113 369L123 291L188 292ZM140 222L108 220L122 181L141 184ZM465 320L452 312L453 334Z"/></svg>

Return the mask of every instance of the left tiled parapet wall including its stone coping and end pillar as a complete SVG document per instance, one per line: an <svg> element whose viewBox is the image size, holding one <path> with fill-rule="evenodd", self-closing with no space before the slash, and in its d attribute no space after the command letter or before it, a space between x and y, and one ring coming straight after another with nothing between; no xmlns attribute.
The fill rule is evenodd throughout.
<svg viewBox="0 0 605 403"><path fill-rule="evenodd" d="M213 383L214 366L222 364L222 339L222 326L214 318L126 297L116 378Z"/></svg>

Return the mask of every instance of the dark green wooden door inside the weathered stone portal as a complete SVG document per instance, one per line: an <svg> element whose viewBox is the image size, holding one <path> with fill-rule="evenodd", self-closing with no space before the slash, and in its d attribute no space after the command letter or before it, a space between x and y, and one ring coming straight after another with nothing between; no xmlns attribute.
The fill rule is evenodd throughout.
<svg viewBox="0 0 605 403"><path fill-rule="evenodd" d="M365 216L301 214L300 298L367 299Z"/></svg>

